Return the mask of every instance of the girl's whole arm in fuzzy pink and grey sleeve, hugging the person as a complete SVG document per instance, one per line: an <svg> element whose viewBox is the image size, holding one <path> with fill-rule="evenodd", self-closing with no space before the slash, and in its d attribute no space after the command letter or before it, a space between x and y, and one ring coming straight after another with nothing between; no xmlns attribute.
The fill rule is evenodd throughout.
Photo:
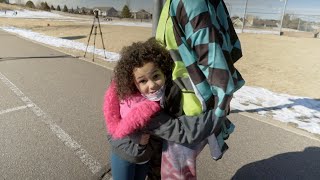
<svg viewBox="0 0 320 180"><path fill-rule="evenodd" d="M151 108L152 105L155 105L154 109ZM145 108L141 108L142 106ZM130 114L127 114L128 119L121 119L119 108L116 87L112 82L105 96L104 115L108 132L113 138L122 138L132 134L137 129L146 126L148 122L150 122L148 129L152 134L177 143L200 142L212 133L220 132L221 123L218 121L221 122L221 119L217 119L212 110L199 116L180 116L178 118L160 112L151 118L160 107L155 102L143 101L135 107L136 109L132 109Z"/></svg>

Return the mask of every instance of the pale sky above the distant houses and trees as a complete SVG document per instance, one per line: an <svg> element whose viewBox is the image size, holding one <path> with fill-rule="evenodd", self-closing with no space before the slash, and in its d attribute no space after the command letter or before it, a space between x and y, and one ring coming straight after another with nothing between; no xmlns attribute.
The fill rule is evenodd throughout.
<svg viewBox="0 0 320 180"><path fill-rule="evenodd" d="M26 3L28 0L9 0L10 3ZM33 0L34 3L42 2L44 0ZM151 12L153 10L154 0L45 0L49 5L67 5L68 7L95 7L95 6L112 6L117 10L128 3L130 9L138 11L145 9ZM233 7L234 13L243 14L243 7L246 0L225 0L225 2ZM248 0L248 10L258 11L264 13L278 13L281 14L284 7L285 0ZM320 1L319 0L287 0L287 11L296 14L312 14L320 15Z"/></svg>

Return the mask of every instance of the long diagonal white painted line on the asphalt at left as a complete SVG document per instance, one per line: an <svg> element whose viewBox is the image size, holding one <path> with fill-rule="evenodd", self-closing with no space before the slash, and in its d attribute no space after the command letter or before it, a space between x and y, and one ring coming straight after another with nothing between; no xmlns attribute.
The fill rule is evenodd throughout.
<svg viewBox="0 0 320 180"><path fill-rule="evenodd" d="M0 72L0 80L7 85L16 94L26 106L30 106L31 111L39 117L39 119L45 123L48 128L64 143L65 146L70 148L76 156L80 158L89 170L96 174L102 170L100 163L95 160L85 149L81 148L81 145L73 140L69 134L67 134L61 127L54 123L51 118L40 109L35 103L33 103L27 96L23 94L6 76Z"/></svg>

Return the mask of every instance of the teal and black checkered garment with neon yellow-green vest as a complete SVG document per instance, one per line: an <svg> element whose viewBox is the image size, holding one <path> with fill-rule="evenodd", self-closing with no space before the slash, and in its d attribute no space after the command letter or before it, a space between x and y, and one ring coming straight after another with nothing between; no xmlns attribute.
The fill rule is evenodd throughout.
<svg viewBox="0 0 320 180"><path fill-rule="evenodd" d="M214 109L222 148L234 128L226 118L232 95L245 83L234 67L242 51L223 0L167 0L156 38L175 62L172 78L182 90L184 113Z"/></svg>

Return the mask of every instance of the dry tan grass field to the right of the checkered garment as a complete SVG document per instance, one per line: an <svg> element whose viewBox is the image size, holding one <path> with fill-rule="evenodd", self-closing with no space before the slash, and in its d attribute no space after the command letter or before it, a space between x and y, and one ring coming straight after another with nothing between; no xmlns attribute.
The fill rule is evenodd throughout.
<svg viewBox="0 0 320 180"><path fill-rule="evenodd" d="M320 98L320 39L241 34L237 67L247 85Z"/></svg>

